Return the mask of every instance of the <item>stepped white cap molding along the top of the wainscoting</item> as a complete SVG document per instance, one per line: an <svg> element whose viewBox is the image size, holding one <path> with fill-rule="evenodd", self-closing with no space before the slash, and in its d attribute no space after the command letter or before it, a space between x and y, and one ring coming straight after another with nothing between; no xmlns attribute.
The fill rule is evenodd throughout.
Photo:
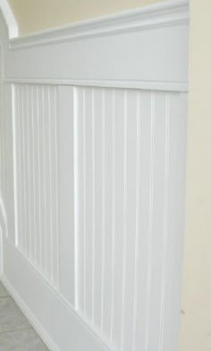
<svg viewBox="0 0 211 351"><path fill-rule="evenodd" d="M35 47L47 43L93 38L129 31L143 31L187 22L189 22L189 1L170 0L11 39L10 48Z"/></svg>

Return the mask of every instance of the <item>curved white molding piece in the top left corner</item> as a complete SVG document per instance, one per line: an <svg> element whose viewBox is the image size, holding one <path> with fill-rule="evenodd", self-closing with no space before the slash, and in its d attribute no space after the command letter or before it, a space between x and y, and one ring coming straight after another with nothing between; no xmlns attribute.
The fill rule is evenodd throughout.
<svg viewBox="0 0 211 351"><path fill-rule="evenodd" d="M8 1L0 0L0 8L2 10L2 13L4 15L4 20L8 28L9 38L10 39L17 38L19 35L18 24L15 20L11 7L8 4Z"/></svg>

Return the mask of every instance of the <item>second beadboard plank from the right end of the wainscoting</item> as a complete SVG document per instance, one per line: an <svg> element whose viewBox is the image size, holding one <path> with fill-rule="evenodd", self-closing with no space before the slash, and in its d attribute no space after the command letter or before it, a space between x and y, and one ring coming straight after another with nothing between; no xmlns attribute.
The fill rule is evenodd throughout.
<svg viewBox="0 0 211 351"><path fill-rule="evenodd" d="M165 245L166 192L168 188L168 118L169 94L156 92L153 96L154 153L153 153L153 198L150 245L150 269L148 276L148 340L149 350L160 343L162 304L163 249Z"/></svg>

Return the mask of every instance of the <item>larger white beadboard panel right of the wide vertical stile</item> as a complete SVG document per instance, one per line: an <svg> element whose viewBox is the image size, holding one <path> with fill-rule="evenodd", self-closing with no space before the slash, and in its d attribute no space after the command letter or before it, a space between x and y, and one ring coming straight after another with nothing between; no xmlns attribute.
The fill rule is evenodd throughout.
<svg viewBox="0 0 211 351"><path fill-rule="evenodd" d="M114 349L154 350L164 342L166 226L173 220L169 160L172 149L180 153L169 119L171 110L181 118L183 95L80 88L77 96L83 103L77 135L79 311Z"/></svg>

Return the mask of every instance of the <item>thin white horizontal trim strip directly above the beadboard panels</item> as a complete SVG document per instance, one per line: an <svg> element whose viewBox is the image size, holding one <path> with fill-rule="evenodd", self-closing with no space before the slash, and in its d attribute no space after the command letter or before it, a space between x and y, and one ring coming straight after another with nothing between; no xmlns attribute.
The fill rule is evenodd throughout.
<svg viewBox="0 0 211 351"><path fill-rule="evenodd" d="M7 78L4 83L17 84L53 84L74 86L96 86L105 88L142 89L166 92L188 92L185 82L150 82L150 81L122 81L122 80L83 80L83 79L36 79L36 78Z"/></svg>

